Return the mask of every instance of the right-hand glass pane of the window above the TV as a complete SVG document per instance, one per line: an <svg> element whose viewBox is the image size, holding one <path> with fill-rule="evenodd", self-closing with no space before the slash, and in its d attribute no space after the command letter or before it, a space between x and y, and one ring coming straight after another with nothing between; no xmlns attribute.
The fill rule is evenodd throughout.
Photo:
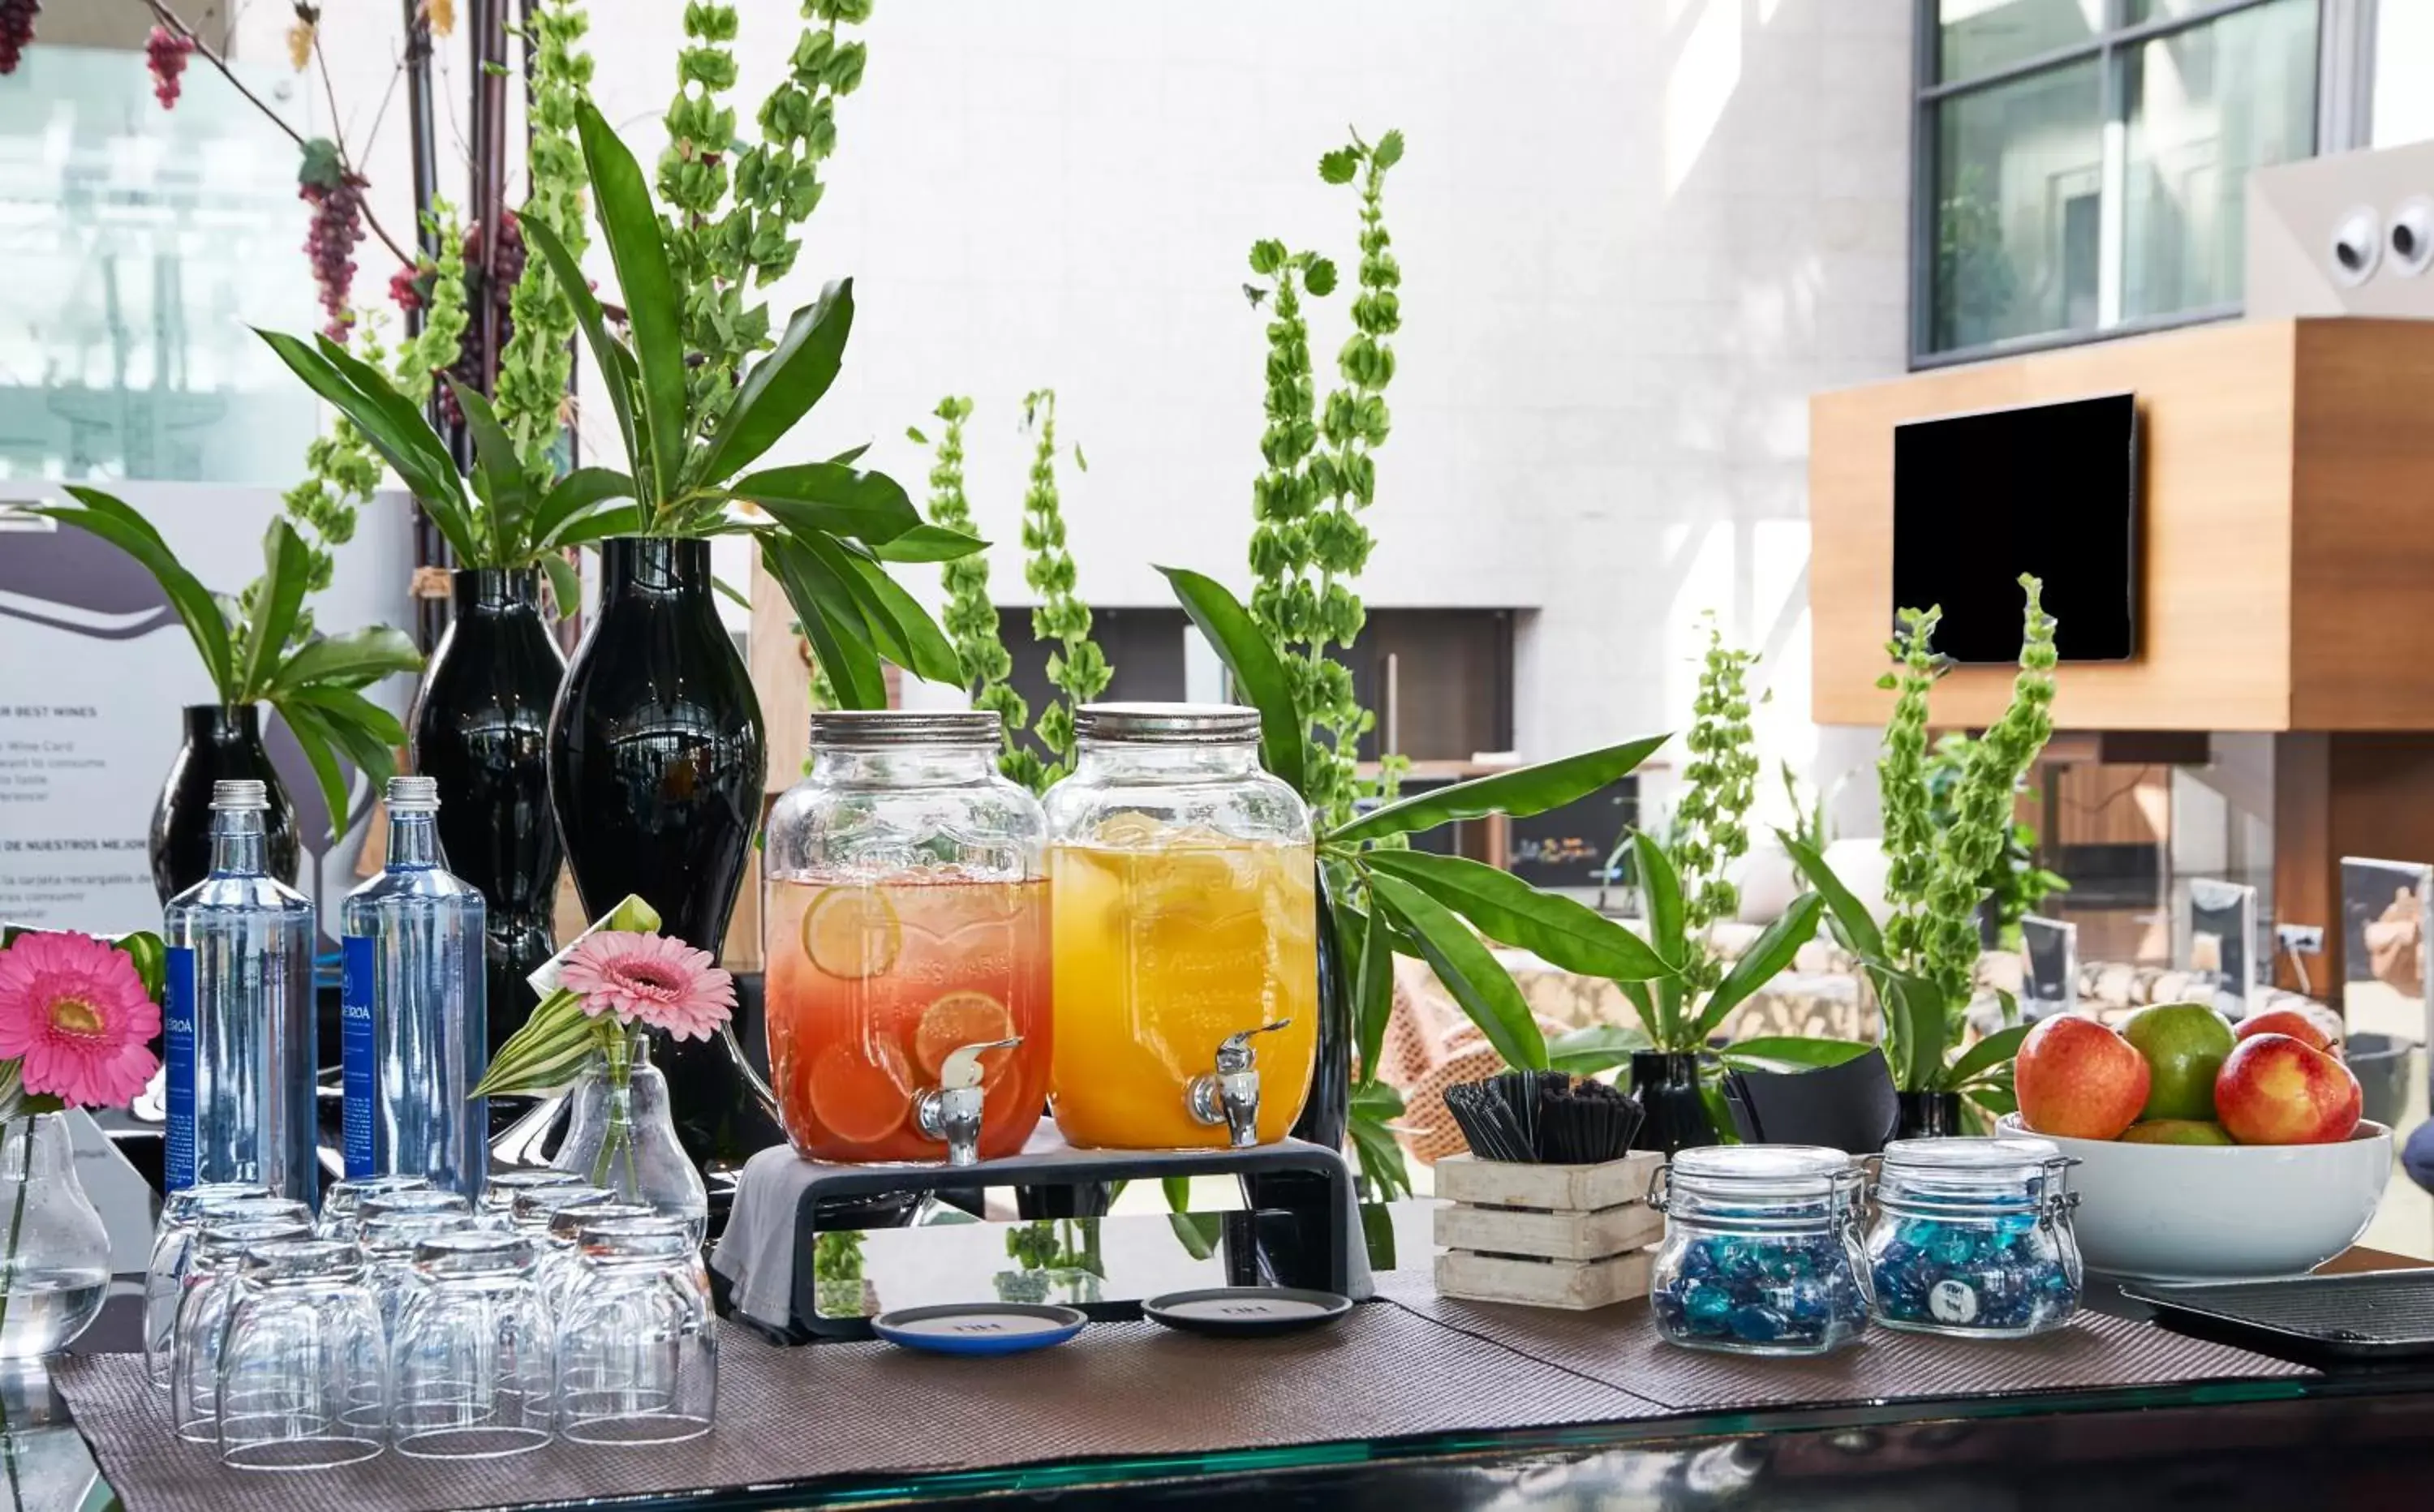
<svg viewBox="0 0 2434 1512"><path fill-rule="evenodd" d="M2251 168L2315 151L2315 0L2122 56L2122 319L2239 299Z"/></svg>

